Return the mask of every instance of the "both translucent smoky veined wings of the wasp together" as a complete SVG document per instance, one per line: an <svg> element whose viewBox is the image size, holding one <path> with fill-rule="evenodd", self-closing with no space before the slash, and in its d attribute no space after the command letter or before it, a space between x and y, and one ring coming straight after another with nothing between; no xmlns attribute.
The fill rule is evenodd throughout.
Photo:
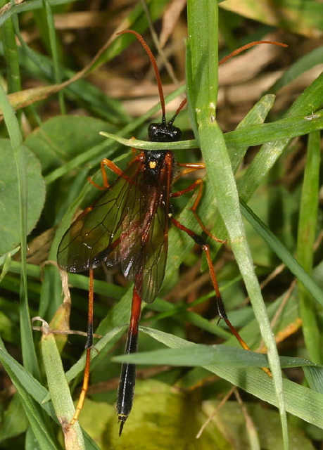
<svg viewBox="0 0 323 450"><path fill-rule="evenodd" d="M66 231L58 264L70 272L121 264L145 302L153 302L165 275L170 198L167 167L153 185L135 158L125 172Z"/></svg>

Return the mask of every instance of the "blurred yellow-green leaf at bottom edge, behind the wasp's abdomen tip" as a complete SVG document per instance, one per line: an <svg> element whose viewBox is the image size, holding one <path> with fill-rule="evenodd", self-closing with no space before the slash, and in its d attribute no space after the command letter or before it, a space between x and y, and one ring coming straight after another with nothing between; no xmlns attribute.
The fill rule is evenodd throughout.
<svg viewBox="0 0 323 450"><path fill-rule="evenodd" d="M207 419L195 392L180 392L156 380L137 383L134 408L121 439L118 422L110 420L104 450L234 450L225 435L211 423L200 439L198 430Z"/></svg>

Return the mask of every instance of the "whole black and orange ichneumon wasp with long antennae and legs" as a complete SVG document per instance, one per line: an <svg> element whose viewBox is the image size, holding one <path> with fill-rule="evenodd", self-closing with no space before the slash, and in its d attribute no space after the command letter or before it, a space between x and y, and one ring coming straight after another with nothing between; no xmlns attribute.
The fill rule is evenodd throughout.
<svg viewBox="0 0 323 450"><path fill-rule="evenodd" d="M173 123L179 111L186 104L186 99L179 105L172 119L167 122L163 87L156 60L140 34L133 30L124 30L118 34L125 33L134 34L144 46L158 83L162 121L149 125L148 140L163 143L179 141L181 131ZM229 56L234 56L240 51L260 43L279 44L272 41L257 41L243 46ZM228 57L224 58L220 63L227 59ZM105 167L111 169L118 176L110 185ZM208 243L205 238L187 229L172 216L172 198L197 188L198 195L191 210L201 229L210 238L218 240L205 229L196 212L202 195L201 179L196 179L193 184L182 191L172 192L176 170L179 171L176 176L178 179L184 174L204 167L203 163L177 165L175 155L171 150L142 150L129 162L124 172L110 160L104 159L101 162L105 190L91 206L75 219L70 229L64 234L57 253L58 265L61 269L70 272L89 271L89 315L84 379L75 415L68 427L77 420L89 385L90 353L93 342L94 269L102 264L107 266L119 264L125 278L134 283L125 353L137 352L141 302L143 300L147 303L153 302L163 283L170 223L191 236L205 252L220 319L227 323L241 346L249 349L224 311ZM135 380L136 366L122 364L117 400L120 435L132 409Z"/></svg>

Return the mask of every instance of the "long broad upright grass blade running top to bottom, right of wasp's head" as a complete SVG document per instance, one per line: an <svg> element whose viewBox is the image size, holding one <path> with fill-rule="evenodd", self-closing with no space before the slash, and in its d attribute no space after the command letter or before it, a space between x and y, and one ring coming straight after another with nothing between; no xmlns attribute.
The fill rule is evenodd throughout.
<svg viewBox="0 0 323 450"><path fill-rule="evenodd" d="M274 390L281 416L284 448L289 447L286 409L279 356L270 328L251 252L239 210L239 196L222 132L215 120L217 100L217 6L215 2L188 1L189 42L187 91L191 118L196 117L196 139L199 139L210 184L229 234L236 262L246 284L268 350Z"/></svg>

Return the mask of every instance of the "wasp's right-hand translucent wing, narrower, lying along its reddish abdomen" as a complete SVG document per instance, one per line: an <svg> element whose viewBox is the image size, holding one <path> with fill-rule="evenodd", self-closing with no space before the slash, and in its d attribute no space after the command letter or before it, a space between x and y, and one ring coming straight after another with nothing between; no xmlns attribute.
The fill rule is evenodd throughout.
<svg viewBox="0 0 323 450"><path fill-rule="evenodd" d="M139 171L132 183L135 203L127 205L120 243L107 264L121 263L142 300L153 302L165 276L172 160L163 159L156 174Z"/></svg>

